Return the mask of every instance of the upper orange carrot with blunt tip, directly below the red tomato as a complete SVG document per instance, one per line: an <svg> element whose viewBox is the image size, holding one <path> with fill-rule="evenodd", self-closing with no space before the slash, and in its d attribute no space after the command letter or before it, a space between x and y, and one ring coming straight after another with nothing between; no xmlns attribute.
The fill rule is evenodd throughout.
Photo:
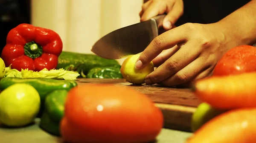
<svg viewBox="0 0 256 143"><path fill-rule="evenodd" d="M256 72L195 82L195 95L217 109L256 107Z"/></svg>

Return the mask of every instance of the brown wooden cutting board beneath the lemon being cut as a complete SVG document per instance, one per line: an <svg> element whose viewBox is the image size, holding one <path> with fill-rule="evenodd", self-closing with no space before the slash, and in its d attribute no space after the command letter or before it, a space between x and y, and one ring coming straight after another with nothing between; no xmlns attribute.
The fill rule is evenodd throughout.
<svg viewBox="0 0 256 143"><path fill-rule="evenodd" d="M201 102L195 97L190 89L178 89L160 87L157 85L147 86L133 85L125 79L77 79L78 84L116 84L144 93L155 105L159 107L164 116L164 127L190 132L191 117L196 107Z"/></svg>

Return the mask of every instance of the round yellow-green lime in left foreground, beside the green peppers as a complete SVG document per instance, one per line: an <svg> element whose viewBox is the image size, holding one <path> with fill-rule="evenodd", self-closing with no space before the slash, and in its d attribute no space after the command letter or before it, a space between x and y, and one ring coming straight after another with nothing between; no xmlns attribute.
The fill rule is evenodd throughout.
<svg viewBox="0 0 256 143"><path fill-rule="evenodd" d="M32 123L39 109L39 93L29 84L13 84L0 93L0 122L6 126Z"/></svg>

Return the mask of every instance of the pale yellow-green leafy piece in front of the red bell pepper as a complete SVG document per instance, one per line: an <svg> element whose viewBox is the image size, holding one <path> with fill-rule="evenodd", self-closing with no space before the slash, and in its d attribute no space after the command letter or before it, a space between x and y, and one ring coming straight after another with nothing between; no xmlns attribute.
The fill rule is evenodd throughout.
<svg viewBox="0 0 256 143"><path fill-rule="evenodd" d="M49 79L64 79L64 80L76 80L80 76L78 72L64 70L63 68L55 70L47 70L44 68L40 71L33 70L21 70L12 69L11 65L6 67L6 73L4 77L17 77L17 78L49 78Z"/></svg>

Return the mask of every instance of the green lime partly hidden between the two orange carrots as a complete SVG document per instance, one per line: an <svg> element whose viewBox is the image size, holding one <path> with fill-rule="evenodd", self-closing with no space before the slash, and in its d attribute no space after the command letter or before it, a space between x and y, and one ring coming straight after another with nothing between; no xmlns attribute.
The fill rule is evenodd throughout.
<svg viewBox="0 0 256 143"><path fill-rule="evenodd" d="M210 121L215 116L226 112L227 110L215 109L207 103L201 103L192 115L191 128L192 132L198 130L205 123Z"/></svg>

